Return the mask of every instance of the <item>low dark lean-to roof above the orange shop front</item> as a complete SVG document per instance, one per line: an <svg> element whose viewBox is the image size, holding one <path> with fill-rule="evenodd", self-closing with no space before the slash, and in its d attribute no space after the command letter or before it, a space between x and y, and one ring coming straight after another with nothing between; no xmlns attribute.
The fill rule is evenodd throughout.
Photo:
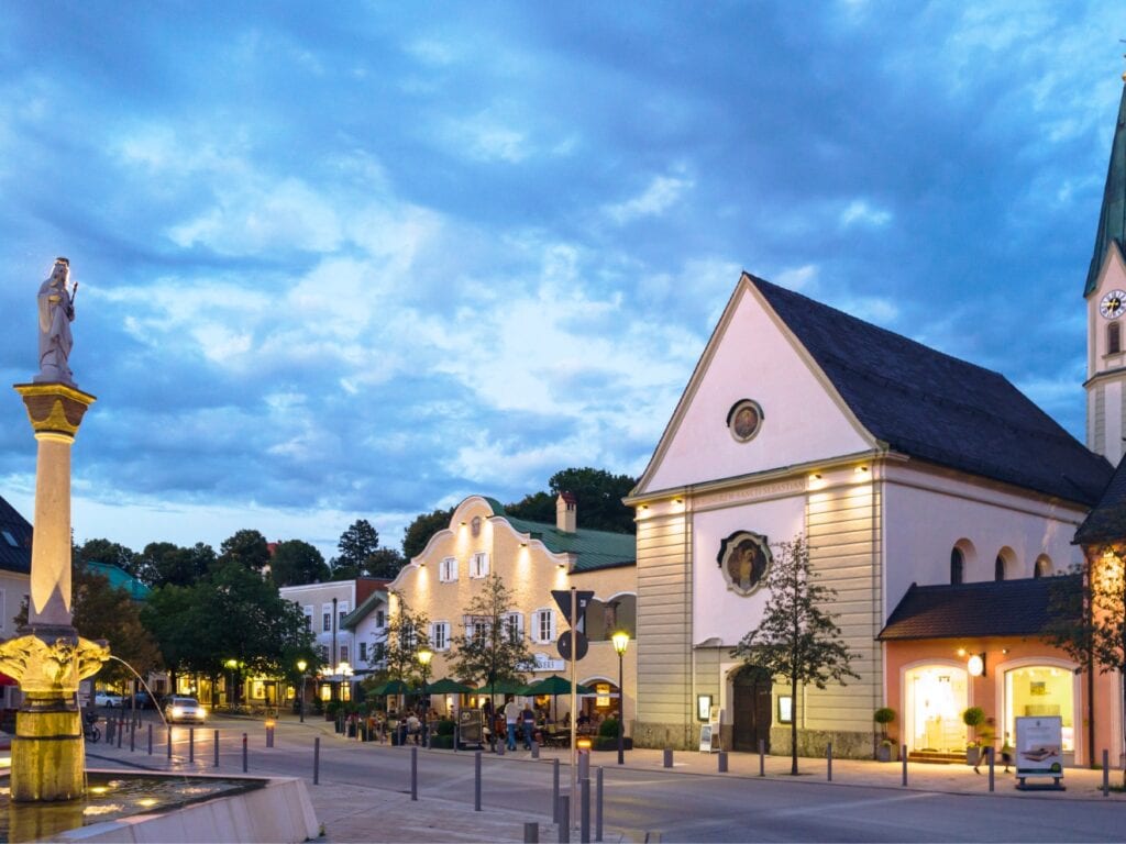
<svg viewBox="0 0 1126 844"><path fill-rule="evenodd" d="M1080 589L1078 575L1019 581L911 587L877 639L976 639L989 636L1037 636L1053 620L1056 590Z"/></svg>

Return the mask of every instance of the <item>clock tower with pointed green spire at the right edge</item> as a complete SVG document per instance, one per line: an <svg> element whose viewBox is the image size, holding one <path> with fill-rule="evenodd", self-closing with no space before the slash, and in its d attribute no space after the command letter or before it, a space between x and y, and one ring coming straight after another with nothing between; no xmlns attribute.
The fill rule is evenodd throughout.
<svg viewBox="0 0 1126 844"><path fill-rule="evenodd" d="M1126 74L1123 80L1126 81ZM1126 87L1110 145L1087 273L1087 447L1117 466L1126 451Z"/></svg>

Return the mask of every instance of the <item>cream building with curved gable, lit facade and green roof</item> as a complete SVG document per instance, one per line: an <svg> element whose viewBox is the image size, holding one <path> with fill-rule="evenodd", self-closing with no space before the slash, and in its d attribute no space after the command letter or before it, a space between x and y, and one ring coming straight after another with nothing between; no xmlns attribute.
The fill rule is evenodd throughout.
<svg viewBox="0 0 1126 844"><path fill-rule="evenodd" d="M636 710L636 648L632 641L636 629L634 537L579 527L579 503L570 496L558 497L556 511L555 524L530 522L507 515L493 499L472 495L457 505L449 527L430 538L390 589L403 596L411 612L429 618L435 654L430 679L438 680L453 674L453 639L465 632L466 608L489 574L498 574L515 598L509 623L527 639L536 657L535 670L525 672L529 682L552 674L566 676L569 671L556 650L556 640L569 625L552 590L574 586L593 592L584 622L590 649L578 664L578 679L604 693L583 699L581 707L602 715L617 710L618 655L610 636L615 630L625 630L631 637L622 664L628 725ZM392 595L392 618L396 611ZM435 701L439 711L476 702L468 697L459 702L453 698ZM562 698L557 706L562 715Z"/></svg>

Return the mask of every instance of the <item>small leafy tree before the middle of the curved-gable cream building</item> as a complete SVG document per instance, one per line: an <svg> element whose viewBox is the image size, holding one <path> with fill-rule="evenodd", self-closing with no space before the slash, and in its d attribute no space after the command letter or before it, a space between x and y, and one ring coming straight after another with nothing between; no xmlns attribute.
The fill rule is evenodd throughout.
<svg viewBox="0 0 1126 844"><path fill-rule="evenodd" d="M516 600L495 572L465 608L464 630L453 638L453 668L462 679L481 680L490 690L502 680L522 682L534 659L520 616L511 612Z"/></svg>

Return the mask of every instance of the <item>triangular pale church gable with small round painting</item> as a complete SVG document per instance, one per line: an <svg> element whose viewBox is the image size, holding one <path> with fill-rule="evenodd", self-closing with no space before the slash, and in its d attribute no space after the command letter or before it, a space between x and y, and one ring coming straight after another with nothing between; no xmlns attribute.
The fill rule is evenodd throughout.
<svg viewBox="0 0 1126 844"><path fill-rule="evenodd" d="M743 276L636 494L865 451L874 440Z"/></svg>

